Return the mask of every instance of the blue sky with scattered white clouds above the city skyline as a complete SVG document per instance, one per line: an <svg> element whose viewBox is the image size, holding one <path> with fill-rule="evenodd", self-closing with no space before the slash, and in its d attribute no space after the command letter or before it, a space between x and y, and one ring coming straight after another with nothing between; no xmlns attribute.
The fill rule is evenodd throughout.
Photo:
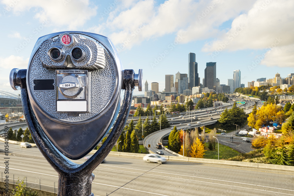
<svg viewBox="0 0 294 196"><path fill-rule="evenodd" d="M143 91L146 80L162 91L165 75L188 74L190 52L201 83L207 62L226 85L234 70L245 87L294 73L293 0L1 0L0 10L0 91L19 94L11 69L26 69L37 39L61 31L110 38L124 69L143 69Z"/></svg>

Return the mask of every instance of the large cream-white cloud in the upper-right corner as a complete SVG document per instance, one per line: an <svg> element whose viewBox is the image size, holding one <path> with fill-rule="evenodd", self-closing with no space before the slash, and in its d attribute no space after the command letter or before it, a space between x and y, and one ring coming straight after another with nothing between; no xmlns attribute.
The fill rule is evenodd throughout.
<svg viewBox="0 0 294 196"><path fill-rule="evenodd" d="M258 0L247 14L234 19L229 31L221 33L218 39L207 43L202 50L208 52L273 48L267 51L263 64L293 66L293 7L292 0ZM279 40L278 44L276 44L277 40Z"/></svg>

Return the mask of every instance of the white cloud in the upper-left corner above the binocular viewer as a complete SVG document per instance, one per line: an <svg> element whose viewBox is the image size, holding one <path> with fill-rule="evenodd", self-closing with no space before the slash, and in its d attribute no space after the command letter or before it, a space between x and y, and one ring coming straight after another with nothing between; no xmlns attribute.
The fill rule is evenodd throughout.
<svg viewBox="0 0 294 196"><path fill-rule="evenodd" d="M96 6L90 5L88 0L30 0L15 1L14 14L24 11L36 12L35 18L40 22L49 21L53 26L67 26L75 29L96 15ZM3 0L2 4L9 6L11 0ZM34 9L33 9L34 8Z"/></svg>

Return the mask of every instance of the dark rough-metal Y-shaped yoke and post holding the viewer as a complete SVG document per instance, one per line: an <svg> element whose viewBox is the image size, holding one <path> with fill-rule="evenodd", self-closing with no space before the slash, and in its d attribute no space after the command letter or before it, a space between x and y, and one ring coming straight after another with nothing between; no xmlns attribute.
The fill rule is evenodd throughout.
<svg viewBox="0 0 294 196"><path fill-rule="evenodd" d="M133 93L133 70L124 70L125 97L121 107L120 115L113 126L113 130L103 143L101 148L85 163L79 165L67 159L51 143L44 130L41 128L36 115L31 108L31 103L26 88L26 70L18 72L18 83L21 86L21 100L24 114L27 119L31 135L40 152L49 164L58 172L58 196L89 196L91 193L93 170L105 159L118 140L121 131L130 112ZM111 119L109 119L111 120Z"/></svg>

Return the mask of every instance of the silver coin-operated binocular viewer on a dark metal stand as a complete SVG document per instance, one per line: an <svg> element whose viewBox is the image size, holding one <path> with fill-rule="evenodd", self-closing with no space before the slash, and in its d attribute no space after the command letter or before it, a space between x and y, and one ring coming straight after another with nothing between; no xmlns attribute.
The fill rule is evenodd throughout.
<svg viewBox="0 0 294 196"><path fill-rule="evenodd" d="M59 174L58 195L93 195L92 172L123 130L133 89L138 86L142 91L142 70L138 74L122 70L108 38L69 31L39 38L28 69L12 69L10 84L21 89L31 135ZM81 165L69 160L88 154L112 126L89 160Z"/></svg>

